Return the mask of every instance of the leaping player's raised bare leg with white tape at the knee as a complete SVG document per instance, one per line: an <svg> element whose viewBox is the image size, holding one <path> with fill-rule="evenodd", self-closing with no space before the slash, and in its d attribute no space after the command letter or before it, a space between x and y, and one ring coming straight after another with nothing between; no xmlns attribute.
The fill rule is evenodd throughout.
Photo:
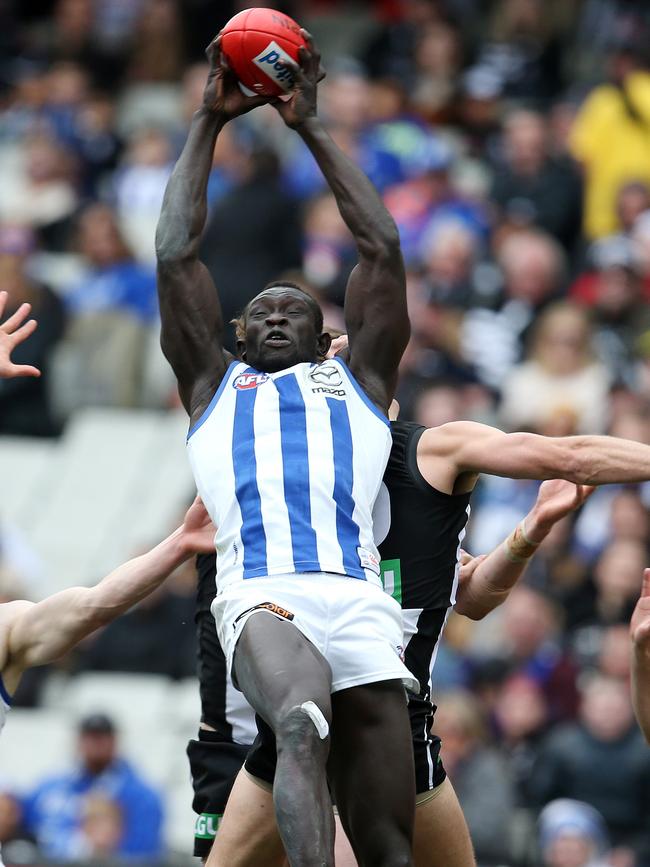
<svg viewBox="0 0 650 867"><path fill-rule="evenodd" d="M273 801L291 867L333 867L334 816L327 787L331 670L291 623L253 614L234 658L239 688L275 733Z"/></svg>

